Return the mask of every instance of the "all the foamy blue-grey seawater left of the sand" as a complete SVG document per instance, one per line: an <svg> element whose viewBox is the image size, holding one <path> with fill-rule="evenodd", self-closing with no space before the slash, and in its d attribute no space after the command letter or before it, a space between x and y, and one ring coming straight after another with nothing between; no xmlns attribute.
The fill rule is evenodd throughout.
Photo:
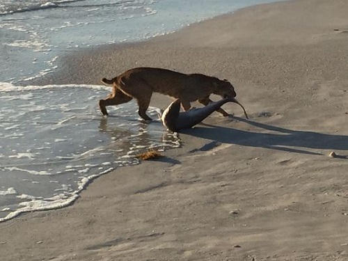
<svg viewBox="0 0 348 261"><path fill-rule="evenodd" d="M70 205L93 178L139 164L150 148L180 146L177 134L144 123L134 102L108 107L109 87L26 86L60 57L96 45L141 41L272 0L0 0L0 221ZM74 97L86 97L74 100Z"/></svg>

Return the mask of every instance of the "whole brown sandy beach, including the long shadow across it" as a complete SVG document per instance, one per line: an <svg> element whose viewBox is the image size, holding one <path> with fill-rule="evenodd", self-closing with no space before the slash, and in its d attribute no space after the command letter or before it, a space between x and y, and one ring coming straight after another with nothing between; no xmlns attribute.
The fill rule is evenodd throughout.
<svg viewBox="0 0 348 261"><path fill-rule="evenodd" d="M213 113L165 157L0 223L1 260L348 260L347 13L345 0L272 3L65 57L38 83L200 72L229 79L250 120L225 104L235 118Z"/></svg>

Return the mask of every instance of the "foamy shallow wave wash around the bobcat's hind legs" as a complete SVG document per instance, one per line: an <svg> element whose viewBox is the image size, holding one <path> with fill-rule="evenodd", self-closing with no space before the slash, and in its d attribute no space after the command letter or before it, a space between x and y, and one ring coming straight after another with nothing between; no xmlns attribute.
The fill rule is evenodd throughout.
<svg viewBox="0 0 348 261"><path fill-rule="evenodd" d="M104 118L97 101L110 91L0 84L0 221L70 205L95 177L139 164L135 155L180 146L160 120L139 119L135 102L110 106ZM148 113L156 119L159 109Z"/></svg>

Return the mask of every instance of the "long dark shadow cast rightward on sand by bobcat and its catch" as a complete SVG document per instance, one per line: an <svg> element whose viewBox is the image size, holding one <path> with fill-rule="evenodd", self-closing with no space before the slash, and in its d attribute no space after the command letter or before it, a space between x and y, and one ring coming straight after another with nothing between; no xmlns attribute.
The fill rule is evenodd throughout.
<svg viewBox="0 0 348 261"><path fill-rule="evenodd" d="M246 122L249 125L267 129L275 133L248 132L245 130L232 129L205 125L209 127L195 127L183 129L183 134L209 139L221 143L230 143L258 148L269 148L272 150L283 150L308 155L323 155L312 150L348 150L348 136L322 134L318 132L296 131L266 125L252 120L235 117L236 120ZM347 155L337 155L337 158L348 159Z"/></svg>

